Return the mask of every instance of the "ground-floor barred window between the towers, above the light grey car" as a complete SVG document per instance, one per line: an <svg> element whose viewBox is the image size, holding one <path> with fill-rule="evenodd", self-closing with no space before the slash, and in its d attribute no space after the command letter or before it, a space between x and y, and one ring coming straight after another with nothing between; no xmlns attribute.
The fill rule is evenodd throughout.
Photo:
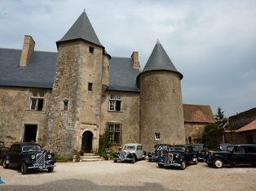
<svg viewBox="0 0 256 191"><path fill-rule="evenodd" d="M121 145L121 124L120 123L107 123L109 141L114 145Z"/></svg>

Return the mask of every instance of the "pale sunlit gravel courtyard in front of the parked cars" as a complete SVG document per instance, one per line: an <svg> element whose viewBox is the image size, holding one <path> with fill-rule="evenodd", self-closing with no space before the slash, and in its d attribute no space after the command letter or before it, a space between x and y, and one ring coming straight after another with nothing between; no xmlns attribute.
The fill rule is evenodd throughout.
<svg viewBox="0 0 256 191"><path fill-rule="evenodd" d="M113 160L56 163L52 173L0 167L5 184L0 190L255 190L256 168L251 166L215 169L205 163L185 170L160 169L147 160L113 163Z"/></svg>

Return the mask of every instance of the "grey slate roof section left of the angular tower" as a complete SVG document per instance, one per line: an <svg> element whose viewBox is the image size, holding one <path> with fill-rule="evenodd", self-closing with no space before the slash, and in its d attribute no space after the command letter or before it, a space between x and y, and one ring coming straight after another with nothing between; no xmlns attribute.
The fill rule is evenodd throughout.
<svg viewBox="0 0 256 191"><path fill-rule="evenodd" d="M20 67L21 50L0 48L0 85L51 89L57 53L34 51Z"/></svg>

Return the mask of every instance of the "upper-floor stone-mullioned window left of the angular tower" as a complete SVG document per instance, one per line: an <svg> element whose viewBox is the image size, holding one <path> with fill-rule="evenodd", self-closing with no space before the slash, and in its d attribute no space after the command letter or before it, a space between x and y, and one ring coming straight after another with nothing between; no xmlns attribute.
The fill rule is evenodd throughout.
<svg viewBox="0 0 256 191"><path fill-rule="evenodd" d="M32 91L30 110L32 111L42 111L43 101L45 93L43 91Z"/></svg>

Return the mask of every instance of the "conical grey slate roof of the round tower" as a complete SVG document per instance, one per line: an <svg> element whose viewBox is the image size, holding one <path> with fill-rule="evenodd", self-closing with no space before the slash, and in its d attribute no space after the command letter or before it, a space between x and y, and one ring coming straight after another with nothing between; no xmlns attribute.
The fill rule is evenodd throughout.
<svg viewBox="0 0 256 191"><path fill-rule="evenodd" d="M161 46L161 43L158 40L156 46L152 50L152 54L150 55L148 62L143 68L143 72L157 70L176 72L179 74L180 80L183 79L182 73L178 72L177 69L174 67L174 64L171 62L169 56L166 54L166 50L164 50L163 46Z"/></svg>

